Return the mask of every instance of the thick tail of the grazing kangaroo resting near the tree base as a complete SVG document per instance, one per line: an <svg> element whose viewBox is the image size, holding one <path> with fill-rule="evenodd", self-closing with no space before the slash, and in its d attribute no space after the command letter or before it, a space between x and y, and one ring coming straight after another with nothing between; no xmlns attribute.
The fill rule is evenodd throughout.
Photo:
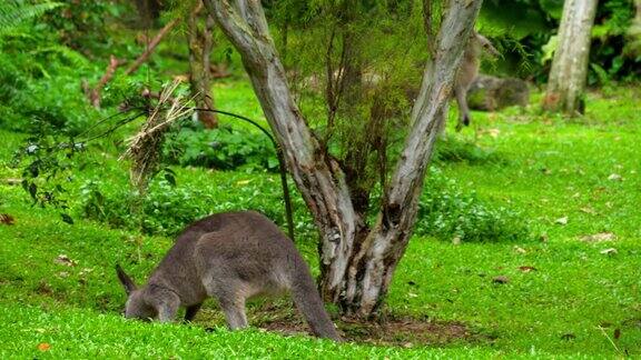
<svg viewBox="0 0 641 360"><path fill-rule="evenodd" d="M343 341L338 332L336 332L336 328L327 311L325 311L323 300L318 294L318 290L316 290L316 283L309 273L307 264L303 259L296 262L292 274L292 294L296 307L303 312L315 336Z"/></svg>

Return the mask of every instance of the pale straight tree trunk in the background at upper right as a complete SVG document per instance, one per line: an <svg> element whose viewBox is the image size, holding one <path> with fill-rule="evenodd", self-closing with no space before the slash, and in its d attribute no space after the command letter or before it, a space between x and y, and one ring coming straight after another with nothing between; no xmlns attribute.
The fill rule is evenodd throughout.
<svg viewBox="0 0 641 360"><path fill-rule="evenodd" d="M582 112L596 4L598 0L566 0L563 4L559 43L543 100L545 110L571 116Z"/></svg>

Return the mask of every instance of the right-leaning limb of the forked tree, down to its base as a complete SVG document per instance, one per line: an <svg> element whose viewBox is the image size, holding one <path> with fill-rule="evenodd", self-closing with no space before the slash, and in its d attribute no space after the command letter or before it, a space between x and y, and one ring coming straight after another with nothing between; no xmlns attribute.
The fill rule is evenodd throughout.
<svg viewBox="0 0 641 360"><path fill-rule="evenodd" d="M383 209L345 279L343 304L349 313L367 317L377 310L405 252L425 170L437 129L445 120L447 100L466 46L466 41L461 40L470 38L480 8L481 1L450 1L435 41L435 53L423 73L421 92L412 109L412 128L392 174Z"/></svg>

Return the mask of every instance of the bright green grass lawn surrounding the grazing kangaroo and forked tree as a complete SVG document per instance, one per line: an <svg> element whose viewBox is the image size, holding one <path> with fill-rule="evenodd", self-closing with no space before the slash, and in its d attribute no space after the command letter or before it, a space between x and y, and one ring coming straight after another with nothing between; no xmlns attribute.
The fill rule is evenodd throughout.
<svg viewBox="0 0 641 360"><path fill-rule="evenodd" d="M217 90L221 109L259 117L256 103L243 100L247 86ZM412 348L338 346L258 329L228 332L214 303L190 326L122 319L125 293L114 264L142 281L171 239L77 217L69 226L56 209L32 207L20 186L8 182L20 178L9 162L23 137L0 130L0 213L16 220L0 224L0 358L641 357L639 98L632 88L590 94L588 114L578 120L535 109L474 113L472 128L457 139L475 141L501 161L447 163L443 172L480 198L522 212L536 236L461 244L415 237L386 311L454 321L475 336ZM109 183L112 191L126 187L126 163L99 149L90 152L97 164L78 176L71 197L88 180ZM207 198L211 211L262 210L279 201L276 176L176 170L179 188L201 184L203 196L215 194ZM269 188L265 183L275 184L273 193L260 192ZM296 204L302 207L299 199ZM307 236L298 248L316 268L314 239L302 233ZM594 234L608 240L590 241ZM496 283L497 276L509 281ZM264 308L254 304L253 319Z"/></svg>

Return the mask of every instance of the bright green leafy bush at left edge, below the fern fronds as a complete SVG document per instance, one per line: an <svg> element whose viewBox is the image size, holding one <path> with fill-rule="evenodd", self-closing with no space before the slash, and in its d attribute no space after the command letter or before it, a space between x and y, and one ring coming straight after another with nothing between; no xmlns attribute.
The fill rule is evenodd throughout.
<svg viewBox="0 0 641 360"><path fill-rule="evenodd" d="M26 31L26 30L24 30ZM81 79L95 77L80 53L42 32L0 37L0 126L33 132L42 123L80 133L100 113L91 108Z"/></svg>

